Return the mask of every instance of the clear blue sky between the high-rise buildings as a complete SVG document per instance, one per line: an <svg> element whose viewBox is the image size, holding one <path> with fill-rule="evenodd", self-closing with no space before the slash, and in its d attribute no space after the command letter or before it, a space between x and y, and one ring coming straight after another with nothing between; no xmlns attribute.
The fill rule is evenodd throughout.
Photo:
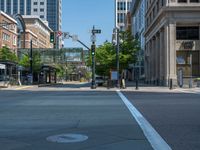
<svg viewBox="0 0 200 150"><path fill-rule="evenodd" d="M78 35L90 47L90 30L93 25L101 29L97 45L111 41L114 27L114 0L62 0L62 31ZM82 47L71 39L65 40L65 47Z"/></svg>

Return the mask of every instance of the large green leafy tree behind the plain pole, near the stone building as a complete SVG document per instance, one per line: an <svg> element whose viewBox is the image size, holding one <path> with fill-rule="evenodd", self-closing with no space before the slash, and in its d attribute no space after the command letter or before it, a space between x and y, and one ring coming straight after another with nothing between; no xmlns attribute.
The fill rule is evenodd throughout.
<svg viewBox="0 0 200 150"><path fill-rule="evenodd" d="M128 68L129 64L133 64L137 60L137 52L139 51L139 42L134 39L130 31L120 32L119 63L120 72ZM91 66L91 54L87 61L87 65ZM110 70L116 69L116 48L113 44L105 42L96 49L96 74L108 76Z"/></svg>

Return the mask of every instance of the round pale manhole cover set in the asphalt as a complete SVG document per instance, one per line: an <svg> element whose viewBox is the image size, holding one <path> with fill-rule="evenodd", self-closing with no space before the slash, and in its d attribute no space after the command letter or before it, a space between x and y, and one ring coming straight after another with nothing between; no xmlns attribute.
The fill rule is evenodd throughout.
<svg viewBox="0 0 200 150"><path fill-rule="evenodd" d="M87 140L86 135L81 134L60 134L47 137L47 141L56 143L75 143Z"/></svg>

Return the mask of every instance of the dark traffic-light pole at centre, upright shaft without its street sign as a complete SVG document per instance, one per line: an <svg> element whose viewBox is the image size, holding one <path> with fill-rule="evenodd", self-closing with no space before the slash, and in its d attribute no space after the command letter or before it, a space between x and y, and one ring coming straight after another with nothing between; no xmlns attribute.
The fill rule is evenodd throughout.
<svg viewBox="0 0 200 150"><path fill-rule="evenodd" d="M92 35L95 36L94 33L95 27L93 26ZM92 41L92 85L91 89L96 89L96 83L95 83L95 40Z"/></svg>

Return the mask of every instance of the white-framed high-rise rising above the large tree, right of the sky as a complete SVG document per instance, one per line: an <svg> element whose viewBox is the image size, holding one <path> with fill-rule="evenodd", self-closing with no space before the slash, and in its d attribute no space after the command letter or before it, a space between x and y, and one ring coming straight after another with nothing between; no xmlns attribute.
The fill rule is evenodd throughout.
<svg viewBox="0 0 200 150"><path fill-rule="evenodd" d="M132 0L115 0L115 26L121 31L126 27L126 16L130 11Z"/></svg>

